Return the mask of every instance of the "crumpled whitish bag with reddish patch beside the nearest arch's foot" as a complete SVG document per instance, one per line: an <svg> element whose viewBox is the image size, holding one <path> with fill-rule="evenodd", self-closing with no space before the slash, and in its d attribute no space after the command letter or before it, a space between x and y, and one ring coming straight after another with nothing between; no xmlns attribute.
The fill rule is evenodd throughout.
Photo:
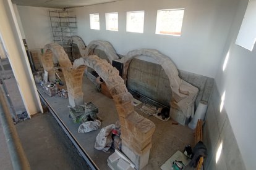
<svg viewBox="0 0 256 170"><path fill-rule="evenodd" d="M94 147L96 150L103 150L107 152L111 147L113 140L111 139L111 131L114 129L114 124L110 124L109 126L103 127L100 130L100 133L96 137L96 142Z"/></svg>

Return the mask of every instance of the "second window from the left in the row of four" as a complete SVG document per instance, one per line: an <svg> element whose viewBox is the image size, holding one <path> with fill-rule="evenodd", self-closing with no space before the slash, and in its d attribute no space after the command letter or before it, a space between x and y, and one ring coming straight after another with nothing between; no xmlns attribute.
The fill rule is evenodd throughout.
<svg viewBox="0 0 256 170"><path fill-rule="evenodd" d="M118 31L118 13L106 13L106 30Z"/></svg>

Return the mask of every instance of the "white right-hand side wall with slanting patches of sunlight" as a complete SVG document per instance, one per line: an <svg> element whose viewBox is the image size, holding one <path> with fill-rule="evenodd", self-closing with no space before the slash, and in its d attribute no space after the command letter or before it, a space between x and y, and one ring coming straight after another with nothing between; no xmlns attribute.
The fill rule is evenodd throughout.
<svg viewBox="0 0 256 170"><path fill-rule="evenodd" d="M216 83L221 94L226 91L226 108L237 144L247 169L255 169L256 153L256 49L250 52L235 44L249 0L241 0L223 51ZM229 60L223 63L229 51Z"/></svg>

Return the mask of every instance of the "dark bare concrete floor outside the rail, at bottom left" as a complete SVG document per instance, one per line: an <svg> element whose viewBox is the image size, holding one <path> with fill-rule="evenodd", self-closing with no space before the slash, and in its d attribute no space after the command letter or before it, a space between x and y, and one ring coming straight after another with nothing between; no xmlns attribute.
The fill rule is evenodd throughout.
<svg viewBox="0 0 256 170"><path fill-rule="evenodd" d="M31 169L89 169L50 113L38 113L15 125ZM0 169L12 169L0 127Z"/></svg>

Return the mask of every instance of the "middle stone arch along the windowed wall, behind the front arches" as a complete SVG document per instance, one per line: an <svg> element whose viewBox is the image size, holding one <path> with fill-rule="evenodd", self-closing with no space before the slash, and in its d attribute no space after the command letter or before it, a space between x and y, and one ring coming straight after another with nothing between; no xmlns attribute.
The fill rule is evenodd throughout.
<svg viewBox="0 0 256 170"><path fill-rule="evenodd" d="M104 51L110 63L112 63L113 60L119 59L116 51L114 50L114 47L108 41L91 41L85 49L85 56L90 55L90 52L94 49L100 49L101 51Z"/></svg>

